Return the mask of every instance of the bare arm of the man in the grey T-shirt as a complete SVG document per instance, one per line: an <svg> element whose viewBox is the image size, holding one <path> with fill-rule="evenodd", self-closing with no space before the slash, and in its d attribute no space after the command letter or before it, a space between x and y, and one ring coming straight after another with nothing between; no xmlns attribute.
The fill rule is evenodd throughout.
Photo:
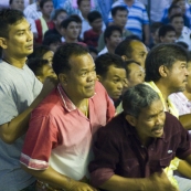
<svg viewBox="0 0 191 191"><path fill-rule="evenodd" d="M31 112L41 103L41 100L55 87L55 79L47 78L43 85L40 95L22 114L13 118L11 121L0 125L0 138L6 144L13 144L19 137L28 130ZM4 108L6 109L6 108Z"/></svg>

